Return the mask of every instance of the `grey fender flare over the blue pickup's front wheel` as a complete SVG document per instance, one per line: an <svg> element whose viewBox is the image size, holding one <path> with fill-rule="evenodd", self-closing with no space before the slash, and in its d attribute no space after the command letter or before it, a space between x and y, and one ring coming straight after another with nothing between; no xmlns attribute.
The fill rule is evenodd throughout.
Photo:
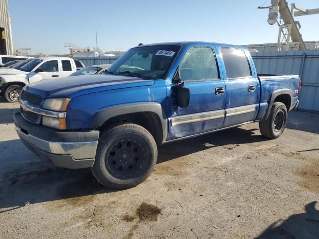
<svg viewBox="0 0 319 239"><path fill-rule="evenodd" d="M151 112L159 117L162 128L162 140L165 141L168 130L166 114L161 105L155 102L132 103L101 109L94 115L91 126L92 128L98 128L102 126L105 121L113 117L141 112Z"/></svg>

